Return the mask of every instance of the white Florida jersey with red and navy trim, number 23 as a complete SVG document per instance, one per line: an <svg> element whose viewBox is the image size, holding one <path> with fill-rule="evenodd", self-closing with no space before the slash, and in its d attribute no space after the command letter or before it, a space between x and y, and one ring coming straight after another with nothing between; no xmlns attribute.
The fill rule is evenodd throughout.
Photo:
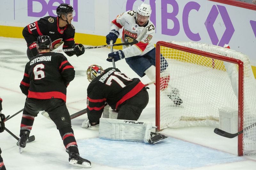
<svg viewBox="0 0 256 170"><path fill-rule="evenodd" d="M132 46L123 46L125 58L144 55L155 48L151 41L156 31L154 24L148 20L147 24L144 26L139 26L136 22L135 16L136 11L126 11L118 15L116 19L111 22L111 30L115 29L116 31L119 31L122 27L124 27L121 38L122 42L132 42L137 38L144 27L148 29L148 32L140 42Z"/></svg>

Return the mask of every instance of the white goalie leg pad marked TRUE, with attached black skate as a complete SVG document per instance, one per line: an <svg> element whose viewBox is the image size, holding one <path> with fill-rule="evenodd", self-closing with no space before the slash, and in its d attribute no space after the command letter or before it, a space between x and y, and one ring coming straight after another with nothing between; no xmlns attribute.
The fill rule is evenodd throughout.
<svg viewBox="0 0 256 170"><path fill-rule="evenodd" d="M151 122L100 118L99 137L110 140L136 141L156 144L168 137L151 132Z"/></svg>

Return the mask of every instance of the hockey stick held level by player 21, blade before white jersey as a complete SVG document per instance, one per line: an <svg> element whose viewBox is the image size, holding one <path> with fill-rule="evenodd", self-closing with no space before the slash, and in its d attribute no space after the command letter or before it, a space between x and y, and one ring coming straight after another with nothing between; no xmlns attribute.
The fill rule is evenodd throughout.
<svg viewBox="0 0 256 170"><path fill-rule="evenodd" d="M136 40L132 42L125 42L125 43L119 43L119 44L109 44L109 45L101 45L101 46L92 46L92 47L85 47L84 49L93 49L93 48L105 48L105 47L115 47L115 46L122 46L122 45L132 45L132 44L137 44L142 40L142 38L146 35L147 33L147 28L143 28L142 32L140 35L136 38ZM75 48L69 48L69 49L60 49L60 50L52 50L52 52L67 52L67 51L74 51Z"/></svg>

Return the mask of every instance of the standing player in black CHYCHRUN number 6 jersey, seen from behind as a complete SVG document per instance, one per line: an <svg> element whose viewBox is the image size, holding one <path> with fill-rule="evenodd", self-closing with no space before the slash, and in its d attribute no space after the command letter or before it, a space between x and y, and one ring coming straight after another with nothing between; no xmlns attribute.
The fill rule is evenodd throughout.
<svg viewBox="0 0 256 170"><path fill-rule="evenodd" d="M79 156L76 139L71 128L70 115L66 107L68 84L75 78L74 67L61 53L52 53L48 35L37 38L39 54L26 64L20 83L22 93L27 96L20 124L20 152L26 146L34 119L45 110L60 131L60 136L69 154L69 164L91 167L89 160Z"/></svg>

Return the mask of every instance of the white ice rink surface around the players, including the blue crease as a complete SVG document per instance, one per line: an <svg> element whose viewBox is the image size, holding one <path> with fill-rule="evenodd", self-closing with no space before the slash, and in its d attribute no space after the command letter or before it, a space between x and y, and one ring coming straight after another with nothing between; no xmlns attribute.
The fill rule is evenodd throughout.
<svg viewBox="0 0 256 170"><path fill-rule="evenodd" d="M5 116L13 115L24 106L26 96L21 93L19 85L28 62L26 50L25 40L0 37L0 96ZM99 48L88 49L79 57L66 55L76 70L76 77L67 89L70 115L86 107L89 82L85 70L91 64L101 65L103 69L112 67L112 63L106 61L109 52L108 48ZM125 60L116 62L116 68L130 78L139 78ZM148 83L149 79L145 76L141 81ZM155 124L155 85L149 87L149 103L139 120ZM5 122L5 126L16 136L19 136L21 115ZM256 169L256 156L237 156L237 137L218 136L213 133L213 127L165 129L161 133L170 138L150 145L100 139L98 131L81 128L86 117L85 114L73 119L72 128L80 155L92 162L91 169ZM38 114L30 134L35 135L36 140L28 143L22 154L15 138L6 131L0 134L1 156L7 170L77 169L68 164L68 154L52 121Z"/></svg>

